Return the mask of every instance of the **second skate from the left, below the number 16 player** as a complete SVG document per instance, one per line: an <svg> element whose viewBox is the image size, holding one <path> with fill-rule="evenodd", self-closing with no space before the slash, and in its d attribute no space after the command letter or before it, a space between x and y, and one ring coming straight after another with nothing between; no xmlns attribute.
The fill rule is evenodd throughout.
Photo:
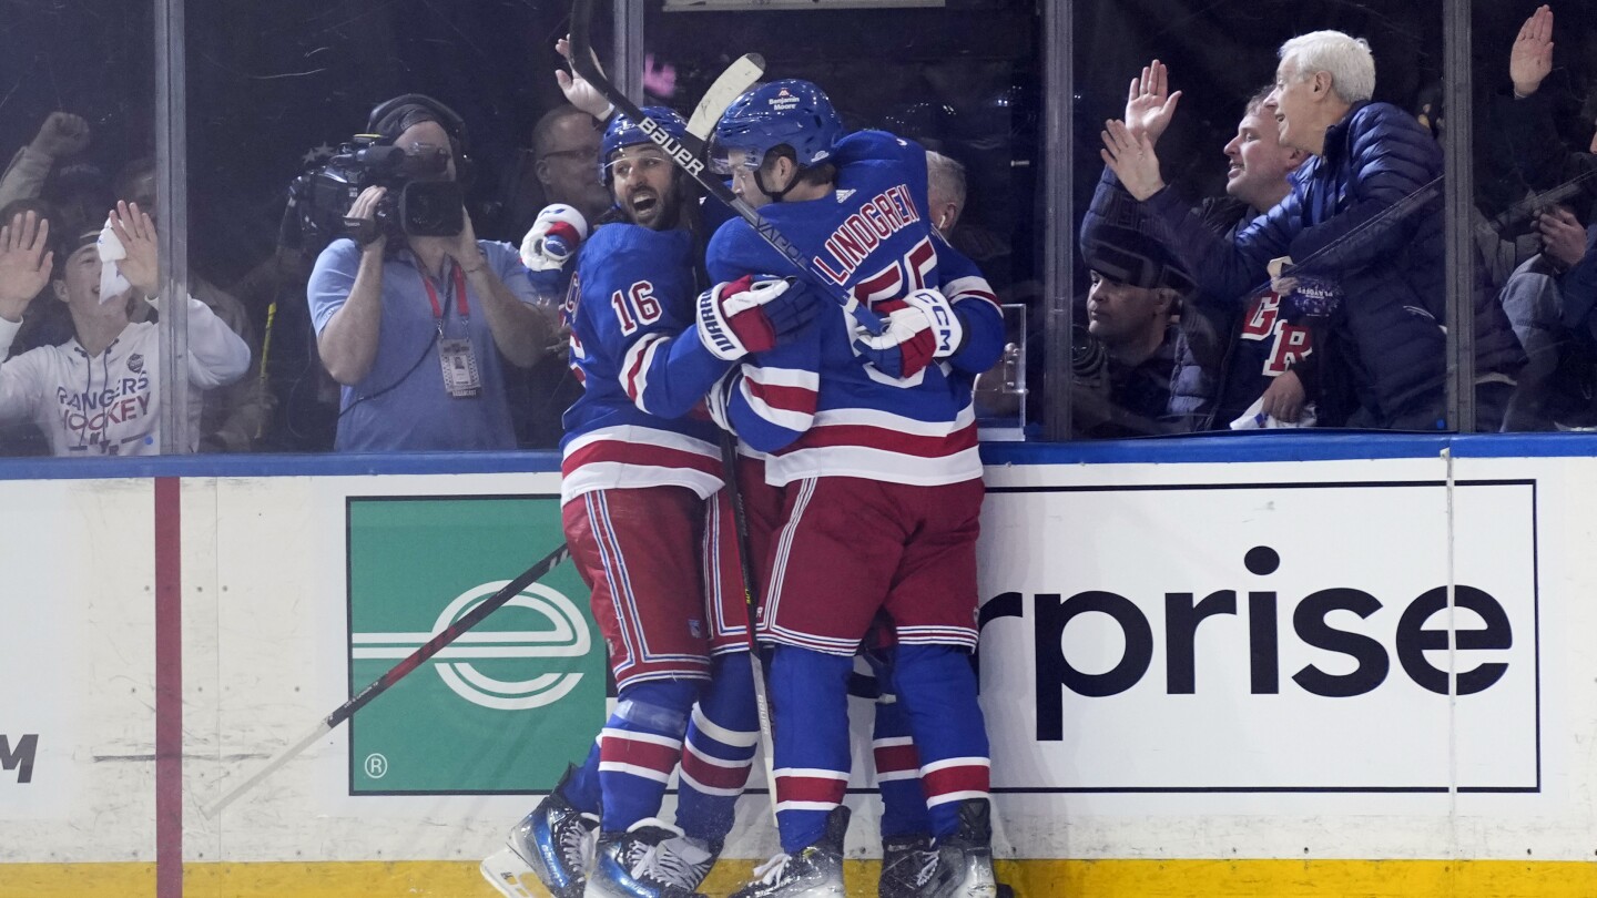
<svg viewBox="0 0 1597 898"><path fill-rule="evenodd" d="M714 856L698 850L693 856L677 852L688 845L679 829L653 817L639 820L626 832L599 836L599 853L588 874L588 898L704 898L693 888L709 872ZM704 855L699 858L698 855Z"/></svg>

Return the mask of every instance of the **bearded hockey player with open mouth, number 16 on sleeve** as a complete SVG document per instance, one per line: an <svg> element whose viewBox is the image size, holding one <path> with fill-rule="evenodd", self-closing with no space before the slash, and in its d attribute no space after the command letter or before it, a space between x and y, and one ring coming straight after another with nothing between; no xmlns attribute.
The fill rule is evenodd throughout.
<svg viewBox="0 0 1597 898"><path fill-rule="evenodd" d="M685 134L677 113L645 112ZM624 117L607 128L600 160L616 209L583 246L567 294L585 391L565 414L561 492L618 695L594 754L513 831L511 847L561 898L680 898L714 852L655 815L711 674L699 540L722 486L714 425L685 415L731 364L693 328L695 308L719 313L722 339L765 348L803 323L787 313L805 304L781 278L743 278L695 302L701 243L688 179Z"/></svg>

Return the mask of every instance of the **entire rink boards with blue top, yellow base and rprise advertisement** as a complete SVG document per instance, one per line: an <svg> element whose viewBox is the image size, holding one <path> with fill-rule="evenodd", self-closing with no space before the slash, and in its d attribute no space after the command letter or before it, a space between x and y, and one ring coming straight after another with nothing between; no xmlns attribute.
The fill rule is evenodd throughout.
<svg viewBox="0 0 1597 898"><path fill-rule="evenodd" d="M1027 858L1006 876L1036 895L1594 893L1597 460L1557 439L1268 443L987 447L997 848ZM153 895L160 832L187 895L372 876L490 895L476 860L597 729L602 646L569 567L353 732L201 807L554 548L554 460L123 465L0 481L0 896ZM158 660L168 476L182 650ZM168 663L180 820L155 812ZM858 749L853 786L869 864ZM751 796L728 855L771 850Z"/></svg>

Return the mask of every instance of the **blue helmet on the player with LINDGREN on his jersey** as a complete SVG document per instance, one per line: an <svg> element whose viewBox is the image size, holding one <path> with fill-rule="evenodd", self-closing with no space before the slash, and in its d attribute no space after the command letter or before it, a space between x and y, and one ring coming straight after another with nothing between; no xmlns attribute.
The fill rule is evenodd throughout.
<svg viewBox="0 0 1597 898"><path fill-rule="evenodd" d="M843 137L843 117L811 81L789 78L751 88L731 101L711 141L711 168L731 174L728 153L747 153L744 165L757 168L779 145L794 150L794 161L811 166L826 161Z"/></svg>

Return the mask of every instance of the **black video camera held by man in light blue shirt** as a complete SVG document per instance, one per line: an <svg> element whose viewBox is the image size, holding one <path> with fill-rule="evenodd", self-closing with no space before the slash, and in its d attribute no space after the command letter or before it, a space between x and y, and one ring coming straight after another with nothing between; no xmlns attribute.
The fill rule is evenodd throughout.
<svg viewBox="0 0 1597 898"><path fill-rule="evenodd" d="M369 243L386 236L455 236L465 230L465 195L447 179L449 149L410 150L356 134L327 163L289 185L289 214L299 219L299 246L316 252L339 236ZM345 219L367 187L386 187L374 221ZM367 230L371 228L371 230Z"/></svg>

